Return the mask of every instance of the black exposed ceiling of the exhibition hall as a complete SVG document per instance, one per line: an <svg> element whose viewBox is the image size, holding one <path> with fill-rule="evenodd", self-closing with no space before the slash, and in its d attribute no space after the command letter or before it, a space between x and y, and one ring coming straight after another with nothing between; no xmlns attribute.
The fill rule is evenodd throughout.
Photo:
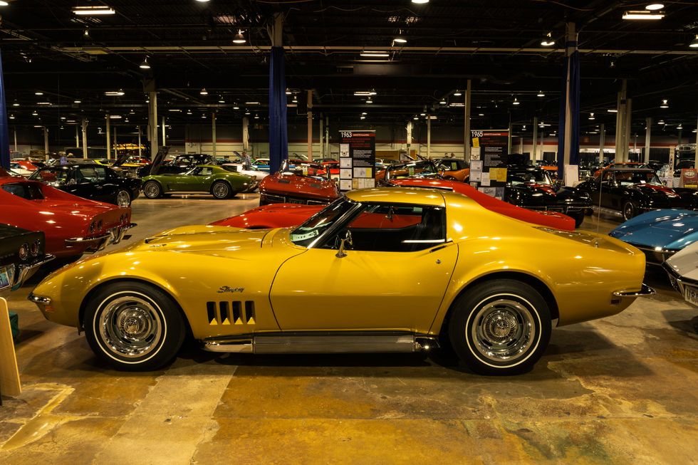
<svg viewBox="0 0 698 465"><path fill-rule="evenodd" d="M0 9L0 48L9 113L17 124L103 118L105 111L123 115L122 124L125 118L145 124L144 83L153 80L160 114L173 124L200 122L203 112L214 109L222 122L239 121L251 101L260 102L249 105L251 112L264 118L269 27L281 13L287 85L303 98L303 90L312 89L316 113L358 122L366 112L372 123L402 125L426 107L439 118L436 124L462 125L463 108L439 101L462 103L453 93L471 79L474 126L506 127L510 120L530 123L537 116L554 127L565 24L574 22L585 130L600 122L615 125L607 110L615 107L624 78L634 130L647 116L662 118L669 128L680 122L692 129L698 118L698 48L689 43L698 33L697 3L665 1L660 21L621 19L623 11L648 3L15 0ZM116 14L88 18L71 11L94 4L108 4ZM232 43L238 30L248 41L242 46ZM556 45L543 47L548 32ZM398 34L407 43L393 43ZM361 57L367 50L389 56ZM144 71L139 64L146 56L152 68ZM202 88L209 95L200 95ZM125 95L104 95L118 89ZM353 95L371 89L377 94L373 105ZM545 97L537 96L541 90ZM514 98L521 105L512 105ZM662 99L670 108L659 108ZM236 104L240 110L233 109ZM590 112L595 120L588 120Z"/></svg>

